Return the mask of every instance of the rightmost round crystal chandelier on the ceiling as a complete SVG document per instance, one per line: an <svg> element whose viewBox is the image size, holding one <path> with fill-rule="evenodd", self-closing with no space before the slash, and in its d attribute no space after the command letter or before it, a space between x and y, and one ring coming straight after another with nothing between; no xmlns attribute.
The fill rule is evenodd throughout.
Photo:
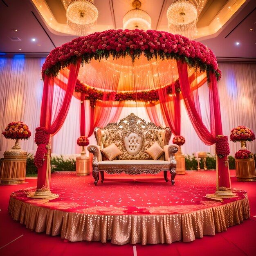
<svg viewBox="0 0 256 256"><path fill-rule="evenodd" d="M172 34L180 34L189 39L196 35L198 11L188 0L176 0L167 10L168 30Z"/></svg>

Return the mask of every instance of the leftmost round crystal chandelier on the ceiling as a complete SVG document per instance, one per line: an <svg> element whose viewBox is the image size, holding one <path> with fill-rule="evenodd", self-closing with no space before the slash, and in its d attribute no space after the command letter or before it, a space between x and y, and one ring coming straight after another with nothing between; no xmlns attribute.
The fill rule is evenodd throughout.
<svg viewBox="0 0 256 256"><path fill-rule="evenodd" d="M93 31L98 18L98 9L93 0L72 0L67 7L67 25L74 34L86 36Z"/></svg>

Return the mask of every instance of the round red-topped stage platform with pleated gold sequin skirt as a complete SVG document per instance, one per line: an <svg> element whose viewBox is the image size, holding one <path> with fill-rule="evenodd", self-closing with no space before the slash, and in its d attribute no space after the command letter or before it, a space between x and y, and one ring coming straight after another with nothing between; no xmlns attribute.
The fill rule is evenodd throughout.
<svg viewBox="0 0 256 256"><path fill-rule="evenodd" d="M249 218L246 191L216 202L216 171L187 171L175 185L158 175L105 175L97 186L92 175L52 174L54 200L32 199L35 187L15 191L9 201L14 220L36 232L69 241L157 244L215 235Z"/></svg>

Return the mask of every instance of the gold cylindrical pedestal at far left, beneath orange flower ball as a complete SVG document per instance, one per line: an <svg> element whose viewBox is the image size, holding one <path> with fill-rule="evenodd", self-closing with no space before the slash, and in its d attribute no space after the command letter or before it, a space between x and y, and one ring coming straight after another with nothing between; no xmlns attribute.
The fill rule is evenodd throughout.
<svg viewBox="0 0 256 256"><path fill-rule="evenodd" d="M25 183L27 152L21 149L11 149L4 152L0 166L1 184Z"/></svg>

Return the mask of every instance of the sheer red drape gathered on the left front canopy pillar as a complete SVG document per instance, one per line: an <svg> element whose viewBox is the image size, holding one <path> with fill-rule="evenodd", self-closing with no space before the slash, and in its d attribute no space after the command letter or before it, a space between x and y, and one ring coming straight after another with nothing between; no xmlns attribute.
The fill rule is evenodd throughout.
<svg viewBox="0 0 256 256"><path fill-rule="evenodd" d="M81 58L76 65L70 64L70 74L67 82L67 88L63 91L63 97L59 97L56 103L56 109L53 110L54 102L54 78L45 76L43 99L40 115L40 126L46 128L46 132L53 136L60 130L63 125L67 112L70 107L70 101L76 85L76 79L81 64ZM54 116L54 118L52 118ZM47 161L43 161L43 165L38 167L37 189L49 189L49 180L47 180Z"/></svg>

